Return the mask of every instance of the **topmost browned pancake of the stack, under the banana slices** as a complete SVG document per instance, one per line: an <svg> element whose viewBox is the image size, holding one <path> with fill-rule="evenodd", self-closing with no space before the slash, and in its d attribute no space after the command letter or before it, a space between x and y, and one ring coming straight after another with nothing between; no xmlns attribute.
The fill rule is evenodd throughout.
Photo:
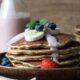
<svg viewBox="0 0 80 80"><path fill-rule="evenodd" d="M58 42L60 43L59 47L66 45L67 43L69 43L72 40L72 36L67 35L67 34L58 34L58 35L55 35L55 37L58 40ZM32 42L26 41L24 38L22 38L19 41L15 42L9 46L10 49L22 49L22 50L50 49L50 47L51 46L48 45L48 42L45 37L38 41L32 41Z"/></svg>

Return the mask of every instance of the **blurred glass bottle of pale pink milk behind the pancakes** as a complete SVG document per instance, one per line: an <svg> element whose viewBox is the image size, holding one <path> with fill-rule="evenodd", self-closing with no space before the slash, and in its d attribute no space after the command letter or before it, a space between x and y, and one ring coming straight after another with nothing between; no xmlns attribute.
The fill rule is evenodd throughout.
<svg viewBox="0 0 80 80"><path fill-rule="evenodd" d="M14 1L2 0L0 9L0 53L7 51L9 40L23 32L30 20L28 12L16 12Z"/></svg>

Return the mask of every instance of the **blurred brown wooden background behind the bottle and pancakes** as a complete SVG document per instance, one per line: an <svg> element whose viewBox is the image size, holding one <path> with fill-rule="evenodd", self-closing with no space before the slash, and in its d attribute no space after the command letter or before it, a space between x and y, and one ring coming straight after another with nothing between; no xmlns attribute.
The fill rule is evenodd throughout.
<svg viewBox="0 0 80 80"><path fill-rule="evenodd" d="M80 24L80 0L15 0L16 10L31 13L31 18L46 18L64 32L73 33Z"/></svg>

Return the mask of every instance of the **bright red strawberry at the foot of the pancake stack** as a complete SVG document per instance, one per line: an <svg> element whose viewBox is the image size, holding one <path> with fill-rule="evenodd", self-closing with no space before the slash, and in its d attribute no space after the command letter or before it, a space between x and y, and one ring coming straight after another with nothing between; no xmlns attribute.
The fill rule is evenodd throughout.
<svg viewBox="0 0 80 80"><path fill-rule="evenodd" d="M50 69L50 68L58 68L58 67L59 67L58 64L56 64L49 58L45 58L40 65L41 69Z"/></svg>

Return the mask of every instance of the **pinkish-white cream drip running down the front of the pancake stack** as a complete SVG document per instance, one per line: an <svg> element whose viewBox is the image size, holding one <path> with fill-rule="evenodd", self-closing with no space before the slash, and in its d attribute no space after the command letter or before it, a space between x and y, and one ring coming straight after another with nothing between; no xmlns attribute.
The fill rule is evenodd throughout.
<svg viewBox="0 0 80 80"><path fill-rule="evenodd" d="M57 41L56 37L52 36L49 33L46 33L46 39L48 41L48 45L50 46L50 49L55 51L52 53L52 59L54 62L58 63L58 53L56 52L58 49L57 47L60 46L60 43Z"/></svg>

